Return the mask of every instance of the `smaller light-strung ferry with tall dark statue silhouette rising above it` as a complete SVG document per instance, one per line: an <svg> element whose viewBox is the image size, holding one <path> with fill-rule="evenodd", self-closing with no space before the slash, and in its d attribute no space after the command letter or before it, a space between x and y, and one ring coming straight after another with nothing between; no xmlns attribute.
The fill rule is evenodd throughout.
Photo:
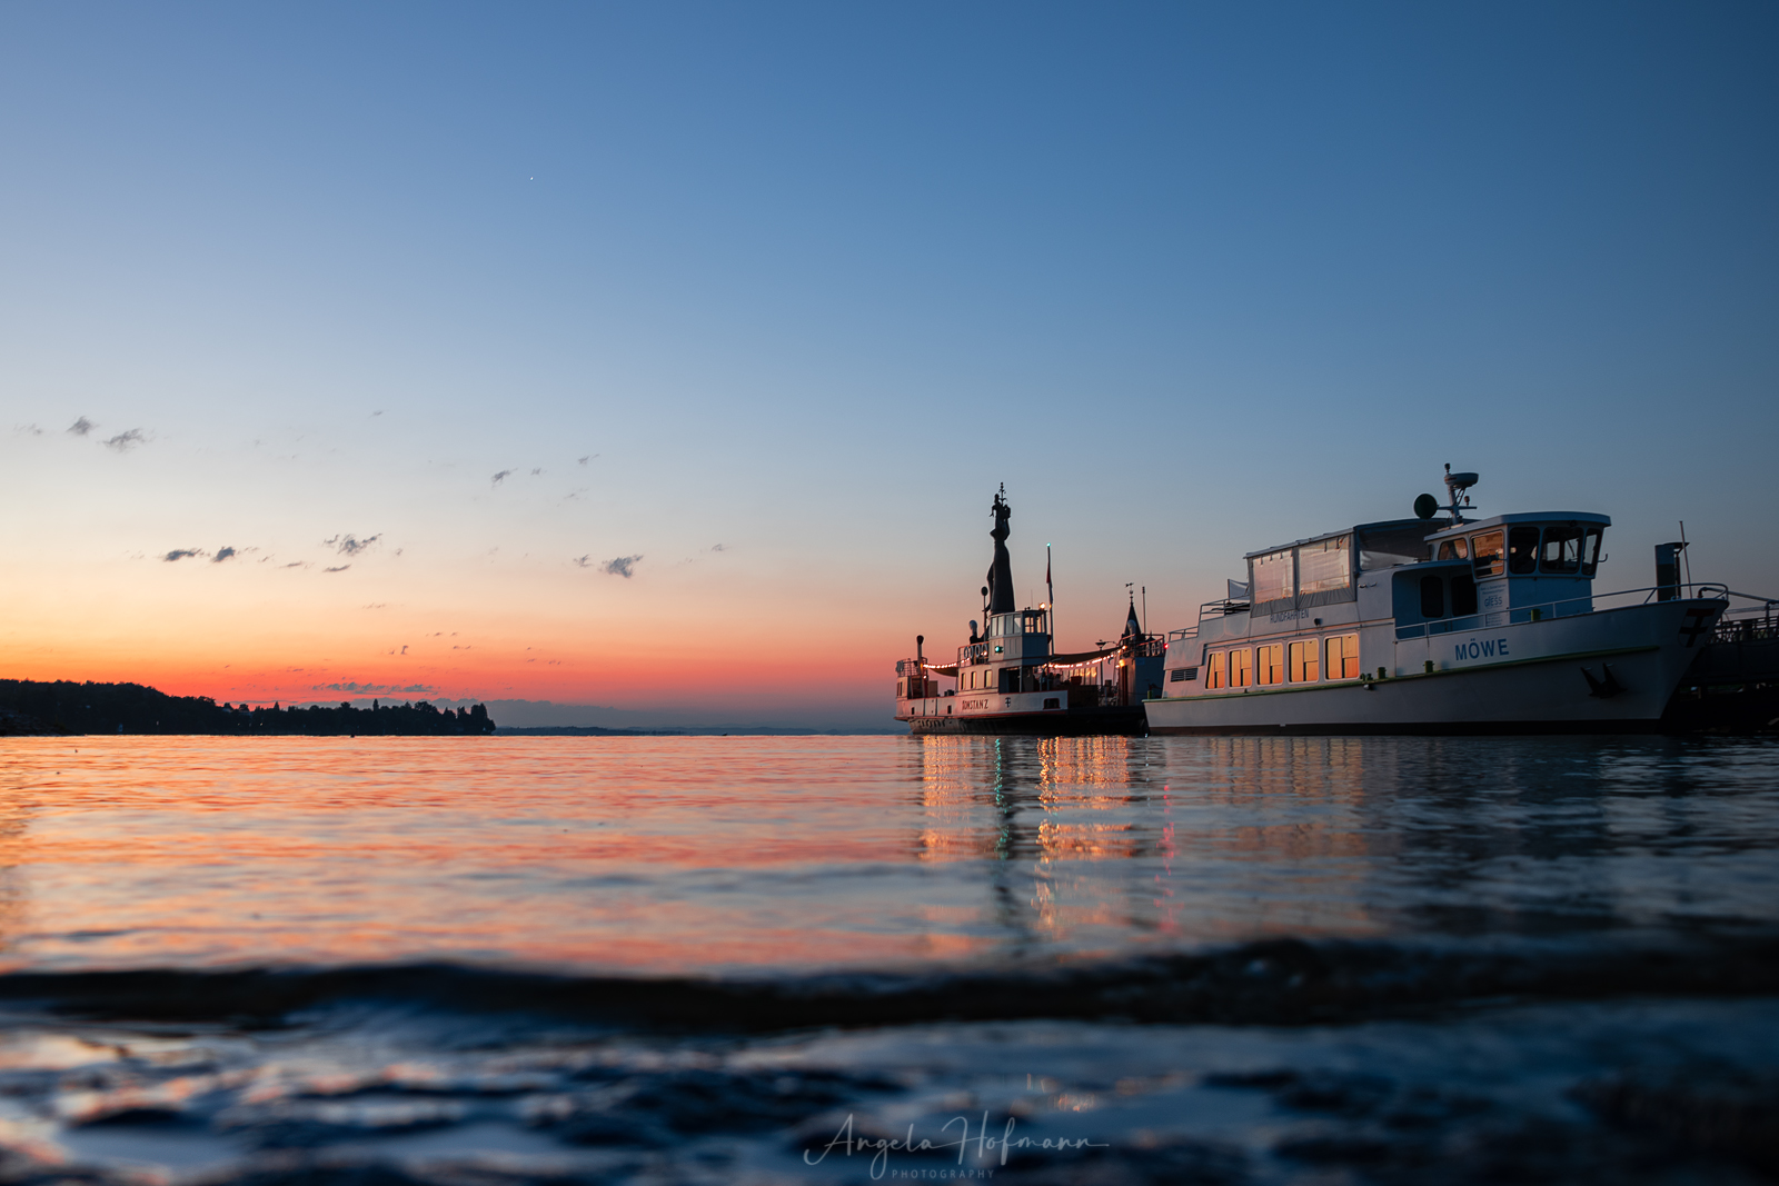
<svg viewBox="0 0 1779 1186"><path fill-rule="evenodd" d="M1018 608L1014 599L1005 493L989 509L994 560L982 587L986 628L970 622L970 642L957 647L954 663L929 661L925 637L916 638L914 658L895 665L897 720L913 733L1144 733L1142 702L1162 693L1165 642L1144 633L1131 601L1117 642L1057 654L1051 601Z"/></svg>

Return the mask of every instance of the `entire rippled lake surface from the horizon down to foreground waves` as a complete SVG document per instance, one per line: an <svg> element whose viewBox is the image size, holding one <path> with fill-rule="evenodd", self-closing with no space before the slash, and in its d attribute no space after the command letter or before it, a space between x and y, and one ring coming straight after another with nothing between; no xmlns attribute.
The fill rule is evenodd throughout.
<svg viewBox="0 0 1779 1186"><path fill-rule="evenodd" d="M7 740L0 944L0 1181L1779 1175L1772 741Z"/></svg>

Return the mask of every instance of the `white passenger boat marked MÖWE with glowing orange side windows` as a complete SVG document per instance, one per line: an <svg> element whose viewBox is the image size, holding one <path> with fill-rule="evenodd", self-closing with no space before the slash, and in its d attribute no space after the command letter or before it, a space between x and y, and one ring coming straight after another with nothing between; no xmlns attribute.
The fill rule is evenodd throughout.
<svg viewBox="0 0 1779 1186"><path fill-rule="evenodd" d="M1445 517L1421 494L1416 519L1249 553L1247 581L1167 637L1149 731L1656 727L1727 590L1669 569L1656 587L1596 594L1606 516L1471 521L1477 475L1450 469Z"/></svg>

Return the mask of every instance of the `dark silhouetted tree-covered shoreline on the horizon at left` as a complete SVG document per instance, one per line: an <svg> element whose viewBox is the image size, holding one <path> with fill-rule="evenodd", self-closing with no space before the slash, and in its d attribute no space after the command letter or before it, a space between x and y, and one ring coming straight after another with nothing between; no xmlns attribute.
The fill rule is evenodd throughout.
<svg viewBox="0 0 1779 1186"><path fill-rule="evenodd" d="M208 695L167 695L139 683L0 679L0 733L224 733L224 734L370 734L464 736L493 733L486 704L436 708L382 704L338 708L249 708L217 704Z"/></svg>

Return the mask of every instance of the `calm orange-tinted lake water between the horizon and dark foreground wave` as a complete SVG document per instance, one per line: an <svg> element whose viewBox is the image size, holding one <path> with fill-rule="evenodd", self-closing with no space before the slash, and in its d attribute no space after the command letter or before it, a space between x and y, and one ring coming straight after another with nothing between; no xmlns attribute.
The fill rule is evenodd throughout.
<svg viewBox="0 0 1779 1186"><path fill-rule="evenodd" d="M1779 747L32 738L0 967L897 967L1772 923Z"/></svg>

